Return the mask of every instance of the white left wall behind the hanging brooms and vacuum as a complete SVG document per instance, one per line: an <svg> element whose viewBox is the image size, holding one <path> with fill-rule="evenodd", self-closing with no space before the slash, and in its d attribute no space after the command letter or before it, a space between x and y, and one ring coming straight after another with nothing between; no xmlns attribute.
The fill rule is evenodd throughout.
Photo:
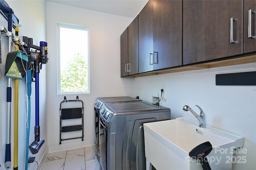
<svg viewBox="0 0 256 170"><path fill-rule="evenodd" d="M19 31L19 38L22 40L22 36L27 36L33 38L34 45L39 45L40 41L46 41L46 28L45 28L45 1L30 1L30 0L6 0L7 4L14 10L14 14L18 17L19 23L22 25ZM8 28L7 21L2 16L1 25ZM15 31L12 31L15 35ZM8 43L7 39L2 37L2 64L1 72L2 79L0 80L0 164L1 170L5 170L4 167L4 154L5 154L5 143L6 143L6 87L7 78L4 77L6 55L8 53ZM41 147L39 152L35 155L36 161L40 162L44 159L44 152L47 149L47 122L46 122L46 66L44 65L40 71L40 136L45 139L45 144ZM25 169L25 155L26 155L26 102L25 102L25 78L19 80L19 117L18 117L18 168ZM30 125L30 140L29 144L34 141L34 126L35 126L35 88L34 83L32 83L32 94L31 94L31 125ZM12 80L12 114L11 114L11 156L12 156L12 166L13 168L13 144L14 144L14 80ZM46 150L47 149L47 150ZM41 162L42 163L42 162ZM40 164L39 166L42 166ZM36 169L36 162L28 164L28 169Z"/></svg>

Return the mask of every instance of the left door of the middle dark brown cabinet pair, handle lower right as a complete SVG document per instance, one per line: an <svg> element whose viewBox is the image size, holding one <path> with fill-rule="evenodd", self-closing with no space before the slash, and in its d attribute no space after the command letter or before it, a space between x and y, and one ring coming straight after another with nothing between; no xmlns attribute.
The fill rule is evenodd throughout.
<svg viewBox="0 0 256 170"><path fill-rule="evenodd" d="M153 70L153 0L139 14L139 73Z"/></svg>

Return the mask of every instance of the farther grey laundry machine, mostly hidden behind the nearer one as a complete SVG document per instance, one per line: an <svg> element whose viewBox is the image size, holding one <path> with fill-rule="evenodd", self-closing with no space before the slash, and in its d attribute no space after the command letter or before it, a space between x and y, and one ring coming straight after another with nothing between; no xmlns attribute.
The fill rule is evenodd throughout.
<svg viewBox="0 0 256 170"><path fill-rule="evenodd" d="M103 103L108 102L131 102L131 101L141 101L137 98L132 98L130 96L120 96L120 97L107 97L107 98L97 98L94 102L94 144L96 148L97 158L100 161L100 150L99 150L99 138L103 135L103 129L100 129L100 117L99 110Z"/></svg>

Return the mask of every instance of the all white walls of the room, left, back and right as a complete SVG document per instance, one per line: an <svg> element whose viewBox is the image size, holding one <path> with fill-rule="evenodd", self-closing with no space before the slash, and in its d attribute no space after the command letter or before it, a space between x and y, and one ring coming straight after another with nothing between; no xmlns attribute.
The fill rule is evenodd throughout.
<svg viewBox="0 0 256 170"><path fill-rule="evenodd" d="M255 71L256 63L141 78L120 78L120 35L132 21L132 18L46 2L45 22L45 2L8 0L7 3L20 19L20 24L22 25L20 37L22 35L32 37L36 45L38 45L39 41L46 40L48 42L48 57L50 60L47 65L43 66L40 72L40 127L41 137L46 140L46 143L40 149L40 152L35 155L37 161L44 159L44 151L48 151L46 149L47 145L49 145L49 152L94 145L93 103L97 97L140 96L142 100L151 102L152 96L160 94L160 84L165 84L166 93L164 96L167 98L167 102L163 103L163 105L171 108L172 119L184 116L196 120L192 114L184 112L182 107L189 105L198 112L194 105L199 105L206 113L207 125L241 135L245 138L244 148L247 149L247 153L236 154L236 156L246 156L247 162L245 164L234 164L233 169L252 170L256 168L256 86L215 85L215 74ZM28 10L21 10L20 6L26 7ZM82 142L79 139L64 141L62 145L59 145L59 104L64 96L67 96L68 100L73 100L76 95L57 95L57 22L90 27L91 40L91 93L79 95L80 100L84 101L84 141ZM1 18L1 25L2 23L7 27ZM45 32L47 39L45 39ZM3 43L2 49L6 50ZM1 71L3 76L4 56L6 54L2 53L2 56L3 64L1 64ZM6 85L7 80L3 77L0 80L1 170L4 169ZM20 98L22 99L25 96L24 86L24 80L20 80ZM34 102L33 96L32 91L32 103ZM20 110L24 110L25 107L25 102L22 99L20 99ZM33 109L32 107L30 143L34 140ZM20 110L19 119L23 123L19 123L19 129L21 130L19 131L18 163L19 168L22 168L24 167L25 160L24 143L26 133L24 129L24 113L22 114ZM35 169L36 165L34 164L29 164L29 169Z"/></svg>

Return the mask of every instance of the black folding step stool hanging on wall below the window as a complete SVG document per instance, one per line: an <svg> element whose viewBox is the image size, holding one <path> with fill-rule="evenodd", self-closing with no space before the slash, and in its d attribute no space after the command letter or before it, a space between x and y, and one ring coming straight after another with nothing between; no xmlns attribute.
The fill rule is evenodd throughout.
<svg viewBox="0 0 256 170"><path fill-rule="evenodd" d="M63 108L63 104L65 103L77 104L77 102L81 107ZM81 119L81 124L77 124L77 122L74 121L74 125L62 126L62 121L68 119ZM62 139L62 133L74 131L81 131L82 135L79 137ZM82 141L84 141L84 103L82 102L82 100L79 100L78 96L76 96L76 100L67 100L66 96L64 96L64 100L60 102L60 144L61 141L78 138L82 138Z"/></svg>

